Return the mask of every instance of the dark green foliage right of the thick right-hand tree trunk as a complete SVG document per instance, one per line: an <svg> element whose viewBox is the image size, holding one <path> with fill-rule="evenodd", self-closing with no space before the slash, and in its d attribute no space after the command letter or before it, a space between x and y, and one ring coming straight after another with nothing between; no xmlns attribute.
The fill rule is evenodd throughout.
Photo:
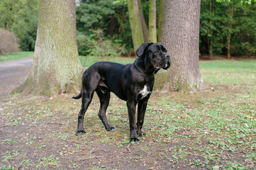
<svg viewBox="0 0 256 170"><path fill-rule="evenodd" d="M230 31L231 55L244 57L256 55L255 1L243 1L243 5L241 2L201 1L201 54L208 53L209 41L212 40L213 53L226 55ZM233 13L230 13L229 9L232 9ZM232 24L231 29L230 23Z"/></svg>

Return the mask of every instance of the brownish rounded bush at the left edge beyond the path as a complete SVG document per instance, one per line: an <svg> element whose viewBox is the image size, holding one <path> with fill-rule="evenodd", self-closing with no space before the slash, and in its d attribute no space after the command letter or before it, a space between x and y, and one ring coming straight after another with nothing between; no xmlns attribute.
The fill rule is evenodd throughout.
<svg viewBox="0 0 256 170"><path fill-rule="evenodd" d="M4 52L18 52L20 51L18 45L18 38L9 30L0 29L0 55Z"/></svg>

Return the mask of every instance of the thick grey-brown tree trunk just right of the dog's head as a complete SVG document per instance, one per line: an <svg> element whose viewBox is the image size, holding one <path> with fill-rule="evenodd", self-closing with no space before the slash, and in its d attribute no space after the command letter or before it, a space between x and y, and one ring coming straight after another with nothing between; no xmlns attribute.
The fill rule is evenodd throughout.
<svg viewBox="0 0 256 170"><path fill-rule="evenodd" d="M206 87L199 72L200 4L200 0L165 1L162 42L172 60L167 78L177 91Z"/></svg>

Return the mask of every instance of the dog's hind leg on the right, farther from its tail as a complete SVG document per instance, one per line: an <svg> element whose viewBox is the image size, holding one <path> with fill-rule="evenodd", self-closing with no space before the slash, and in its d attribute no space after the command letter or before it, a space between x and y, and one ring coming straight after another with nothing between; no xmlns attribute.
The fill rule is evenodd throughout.
<svg viewBox="0 0 256 170"><path fill-rule="evenodd" d="M108 120L106 120L106 109L108 108L108 103L110 99L110 91L108 89L97 89L96 93L99 96L99 101L101 103L101 107L99 108L98 116L101 119L101 122L104 124L107 131L116 130L116 128L110 126L108 124Z"/></svg>

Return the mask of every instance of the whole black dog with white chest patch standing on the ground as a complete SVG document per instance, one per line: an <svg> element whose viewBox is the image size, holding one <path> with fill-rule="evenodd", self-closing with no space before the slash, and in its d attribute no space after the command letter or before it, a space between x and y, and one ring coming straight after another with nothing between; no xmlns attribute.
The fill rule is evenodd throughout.
<svg viewBox="0 0 256 170"><path fill-rule="evenodd" d="M101 103L99 118L106 130L112 131L116 128L111 127L106 120L106 109L112 91L118 98L127 101L129 123L130 123L130 142L138 142L138 136L143 136L145 110L148 99L154 86L154 74L160 69L168 69L171 64L169 55L165 47L157 43L143 43L136 50L138 58L133 64L118 64L113 62L96 62L87 69L82 76L82 90L78 96L82 97L82 106L78 115L77 135L84 132L84 113L87 111L94 91L99 96ZM135 108L138 103L138 120L136 126Z"/></svg>

